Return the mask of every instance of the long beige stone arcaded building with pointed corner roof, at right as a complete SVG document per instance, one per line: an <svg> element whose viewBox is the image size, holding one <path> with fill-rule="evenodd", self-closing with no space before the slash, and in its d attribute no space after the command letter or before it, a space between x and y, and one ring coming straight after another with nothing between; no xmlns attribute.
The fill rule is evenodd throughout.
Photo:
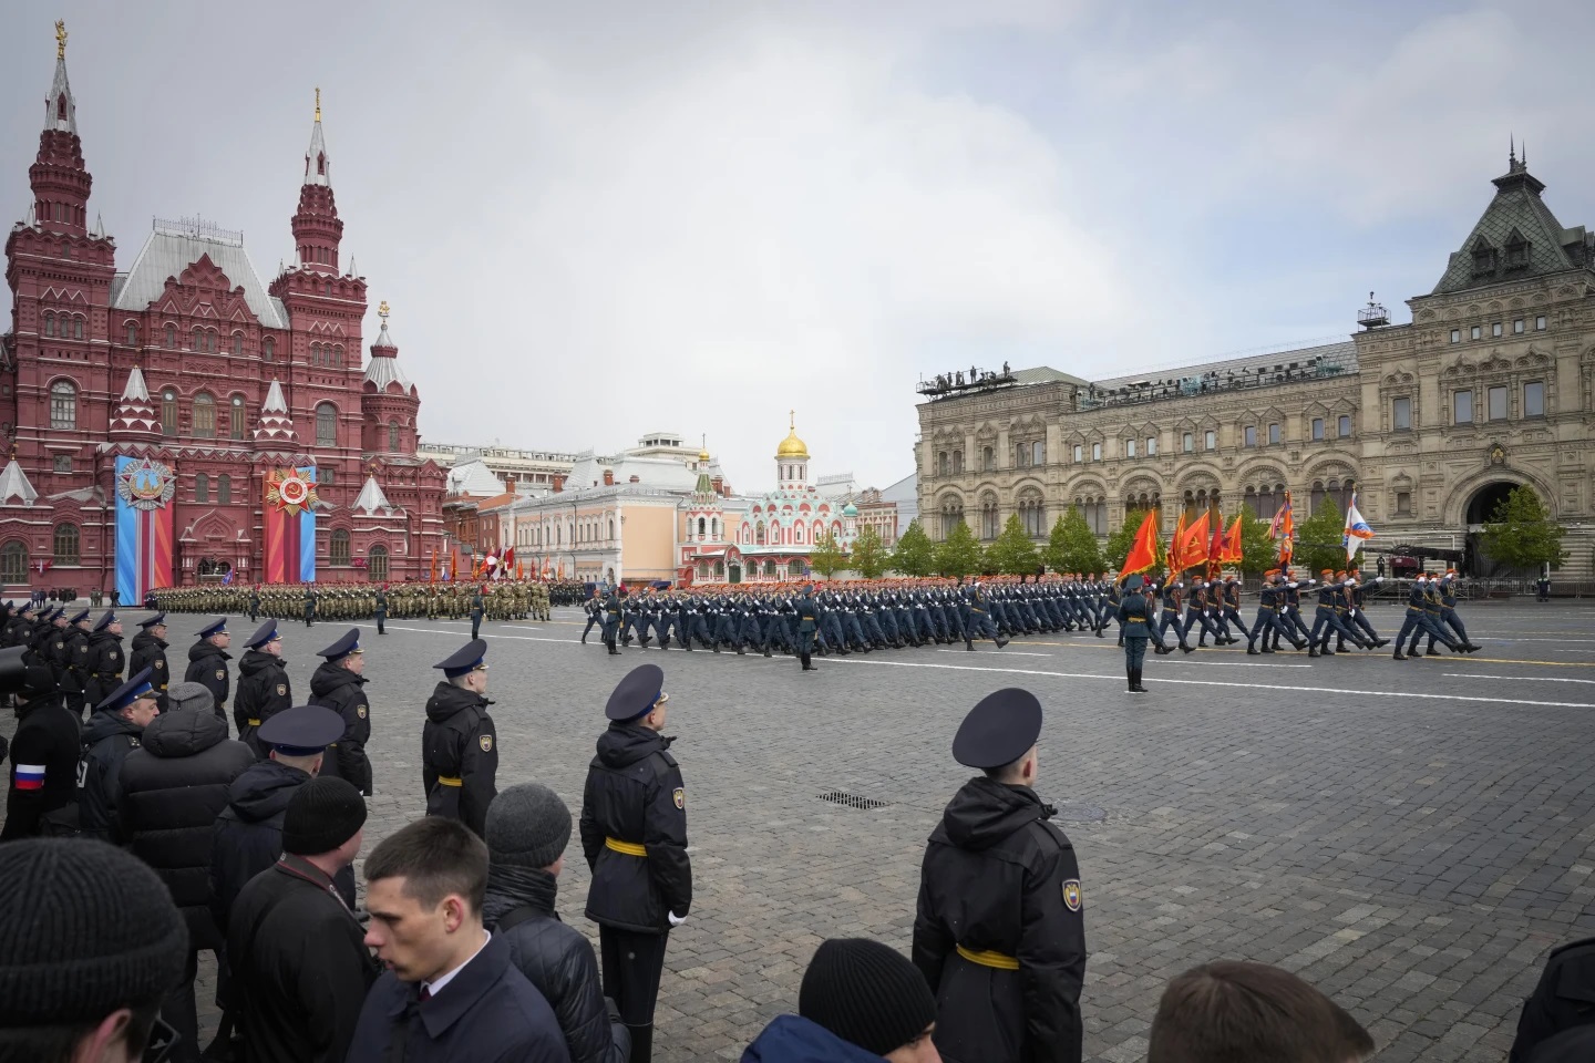
<svg viewBox="0 0 1595 1063"><path fill-rule="evenodd" d="M924 384L925 531L962 520L990 540L1019 513L1045 539L1070 505L1099 535L1148 505L1168 531L1176 507L1212 500L1273 516L1287 489L1300 524L1356 483L1372 545L1472 561L1496 500L1531 484L1569 529L1562 572L1590 575L1595 234L1563 228L1515 155L1493 183L1412 324L1370 301L1346 343L1094 382L1005 367Z"/></svg>

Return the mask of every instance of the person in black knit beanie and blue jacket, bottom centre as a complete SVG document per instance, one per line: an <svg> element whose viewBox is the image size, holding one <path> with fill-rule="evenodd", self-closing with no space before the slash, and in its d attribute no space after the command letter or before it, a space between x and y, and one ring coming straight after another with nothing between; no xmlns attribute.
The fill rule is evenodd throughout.
<svg viewBox="0 0 1595 1063"><path fill-rule="evenodd" d="M938 1063L936 998L903 953L864 937L821 942L798 988L742 1063Z"/></svg>

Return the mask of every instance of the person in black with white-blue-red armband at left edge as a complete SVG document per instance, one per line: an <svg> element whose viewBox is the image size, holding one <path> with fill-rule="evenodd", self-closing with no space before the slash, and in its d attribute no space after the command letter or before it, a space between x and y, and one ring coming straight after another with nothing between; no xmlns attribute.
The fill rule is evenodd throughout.
<svg viewBox="0 0 1595 1063"><path fill-rule="evenodd" d="M49 665L30 660L18 690L21 706L11 739L11 789L0 841L43 834L43 816L70 810L78 800L78 755L83 724L61 704Z"/></svg>

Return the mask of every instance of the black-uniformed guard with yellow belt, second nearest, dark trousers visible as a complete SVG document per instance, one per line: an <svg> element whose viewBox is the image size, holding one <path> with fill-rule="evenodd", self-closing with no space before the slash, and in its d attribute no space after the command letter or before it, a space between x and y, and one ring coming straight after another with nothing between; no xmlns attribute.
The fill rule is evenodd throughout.
<svg viewBox="0 0 1595 1063"><path fill-rule="evenodd" d="M664 684L659 665L641 665L609 695L609 730L582 794L582 854L593 872L587 918L598 924L605 996L632 1031L632 1063L652 1057L665 943L692 907L686 787L668 752L675 739L660 735Z"/></svg>

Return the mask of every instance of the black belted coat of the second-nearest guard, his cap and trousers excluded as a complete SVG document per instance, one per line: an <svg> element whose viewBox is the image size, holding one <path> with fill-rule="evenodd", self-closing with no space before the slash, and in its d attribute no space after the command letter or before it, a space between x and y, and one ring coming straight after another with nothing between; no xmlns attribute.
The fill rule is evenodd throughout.
<svg viewBox="0 0 1595 1063"><path fill-rule="evenodd" d="M611 724L598 736L582 792L582 854L593 872L587 918L640 934L664 934L670 913L692 907L686 789L670 743L641 724ZM632 856L614 845L641 845Z"/></svg>

